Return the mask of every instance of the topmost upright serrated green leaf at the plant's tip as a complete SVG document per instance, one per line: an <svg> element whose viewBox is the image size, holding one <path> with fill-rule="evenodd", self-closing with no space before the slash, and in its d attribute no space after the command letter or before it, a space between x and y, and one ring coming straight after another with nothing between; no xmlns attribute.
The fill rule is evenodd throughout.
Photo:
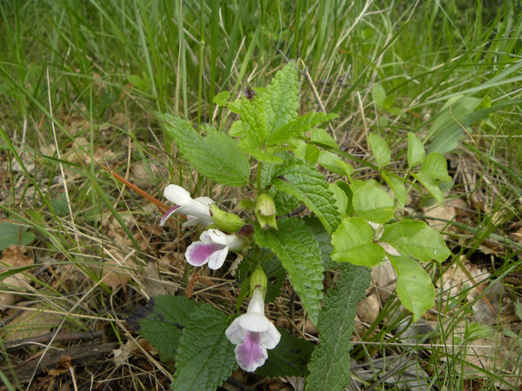
<svg viewBox="0 0 522 391"><path fill-rule="evenodd" d="M298 116L299 82L295 63L290 61L281 68L263 93L266 121L264 143L269 145L272 133Z"/></svg>

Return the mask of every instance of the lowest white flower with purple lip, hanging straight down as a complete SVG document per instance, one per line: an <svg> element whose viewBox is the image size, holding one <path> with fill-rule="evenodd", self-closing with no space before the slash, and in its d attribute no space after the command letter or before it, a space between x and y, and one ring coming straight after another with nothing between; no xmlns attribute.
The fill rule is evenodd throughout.
<svg viewBox="0 0 522 391"><path fill-rule="evenodd" d="M255 371L268 358L267 349L274 349L281 334L265 316L263 291L254 289L246 314L236 317L225 335L235 344L235 360L245 371Z"/></svg>

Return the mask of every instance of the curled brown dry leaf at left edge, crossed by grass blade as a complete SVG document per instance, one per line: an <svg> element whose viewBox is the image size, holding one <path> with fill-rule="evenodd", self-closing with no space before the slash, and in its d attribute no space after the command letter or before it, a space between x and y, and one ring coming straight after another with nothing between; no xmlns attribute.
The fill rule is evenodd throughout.
<svg viewBox="0 0 522 391"><path fill-rule="evenodd" d="M7 264L0 265L0 271L9 270L10 267L23 267L33 264L33 259L26 256L19 246L11 245L2 252L2 262ZM5 310L6 306L11 306L15 303L18 288L29 288L29 276L24 273L17 273L9 276L2 281L2 291L0 291L0 310Z"/></svg>

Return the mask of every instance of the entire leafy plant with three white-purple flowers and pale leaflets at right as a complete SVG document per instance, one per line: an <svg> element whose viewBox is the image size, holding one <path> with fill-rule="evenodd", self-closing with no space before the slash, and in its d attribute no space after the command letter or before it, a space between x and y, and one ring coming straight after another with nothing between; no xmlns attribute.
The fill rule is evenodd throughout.
<svg viewBox="0 0 522 391"><path fill-rule="evenodd" d="M401 219L397 211L407 203L411 186L442 203L438 185L451 178L444 156L426 156L413 133L408 134L408 169L400 175L389 169L391 151L376 135L368 137L367 160L343 151L324 129L335 114L298 115L293 62L266 88L254 91L232 102L227 91L215 97L216 104L240 115L226 131L210 125L196 129L188 120L158 113L199 175L254 194L241 200L239 216L210 198L193 199L182 187L169 185L165 198L176 205L160 223L184 215L184 227L205 227L186 249L190 265L217 270L230 251L239 254L236 312L250 294L246 313L228 315L182 296L157 296L127 322L175 361L172 389L215 389L239 365L266 376L306 377L305 390L341 390L349 382L353 320L370 285L371 267L384 260L393 265L397 295L413 321L433 306L435 289L420 262L442 262L450 252L426 223ZM387 188L358 179L350 162L373 169ZM339 179L327 181L326 170ZM310 215L296 212L300 204ZM338 270L340 279L323 294L328 270ZM265 301L275 302L286 280L318 329L316 346L276 328L265 316ZM330 357L332 346L335 357Z"/></svg>

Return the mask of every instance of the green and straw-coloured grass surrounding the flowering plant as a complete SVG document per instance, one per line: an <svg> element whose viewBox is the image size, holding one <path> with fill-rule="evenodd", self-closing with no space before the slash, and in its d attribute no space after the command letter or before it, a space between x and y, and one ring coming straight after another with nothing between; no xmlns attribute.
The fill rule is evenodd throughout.
<svg viewBox="0 0 522 391"><path fill-rule="evenodd" d="M326 111L338 112L336 137L355 156L367 156L366 135L376 132L392 145L400 172L408 131L430 145L431 136L450 137L452 126L451 132L461 132L457 121L466 127L470 136L463 132L466 137L447 154L455 178L449 196L465 201L447 224L448 243L454 259L472 260L491 273L489 281L499 279L506 287L509 300L489 326L511 341L513 351L501 365L468 369L487 380L483 389L494 389L488 382L518 376L509 368L519 365L520 335L518 328L506 326L505 316L515 314L513 303L520 297L522 249L513 232L520 227L522 188L522 9L515 1L494 3L0 3L5 32L0 34L0 224L15 222L35 235L27 255L36 266L27 273L28 285L17 288L21 301L11 307L42 301L39 308L57 313L61 330L105 327L109 340L125 343L121 320L145 302L143 287L152 278L147 265L157 262L156 284L174 292L185 282L183 252L195 233L178 229L180 224L159 229L160 212L97 163L158 199L166 184L178 183L221 196L232 209L238 194L215 188L183 160L152 148L177 157L154 112L177 113L227 131L234 117L217 109L212 97L222 90L235 97L248 86L263 87L287 58L299 58L302 112L317 110L317 99ZM447 119L443 105L460 94L477 102L489 97L501 108L465 123L468 112L453 106L454 120L436 128L440 113ZM487 105L474 108L488 110ZM364 166L355 168L361 178L373 175ZM421 198L414 194L410 205L418 218L424 217ZM101 274L107 260L129 276L114 291ZM431 269L435 282L453 262ZM208 289L210 277L220 276L201 275L189 290L200 300L232 308L219 298L220 289L232 285L218 279L223 286ZM473 291L473 285L468 282L465 289ZM446 341L457 336L460 321L471 319L480 295L454 297L442 288L438 294L438 311L430 313L435 331L426 342L433 346L425 348L431 355L423 369L439 389L464 390L471 374L461 364L469 360L466 345L473 345L476 335L460 336L464 342L458 351ZM354 350L360 362L408 351L393 346L403 338L395 333L397 324L408 317L393 303L392 297L364 328L361 338L370 345ZM5 324L4 336L15 331L13 324ZM7 351L6 362L15 365L15 356ZM160 382L168 376L162 373L170 369L146 357L158 369L152 380L129 380L131 373L146 371L136 369L136 361L96 380L110 375L119 379L113 387L163 387ZM2 378L8 374L2 366Z"/></svg>

